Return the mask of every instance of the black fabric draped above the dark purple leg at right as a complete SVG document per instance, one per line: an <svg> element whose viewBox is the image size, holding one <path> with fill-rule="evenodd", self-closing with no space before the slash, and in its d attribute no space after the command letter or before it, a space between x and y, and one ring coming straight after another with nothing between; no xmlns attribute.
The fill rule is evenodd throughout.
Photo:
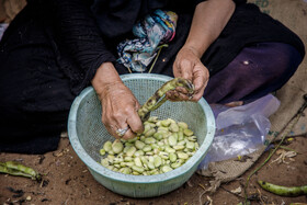
<svg viewBox="0 0 307 205"><path fill-rule="evenodd" d="M221 70L239 52L249 45L263 42L285 43L294 46L302 58L305 47L300 38L268 14L261 13L255 4L247 3L236 8L230 21L204 54L202 61L211 75Z"/></svg>

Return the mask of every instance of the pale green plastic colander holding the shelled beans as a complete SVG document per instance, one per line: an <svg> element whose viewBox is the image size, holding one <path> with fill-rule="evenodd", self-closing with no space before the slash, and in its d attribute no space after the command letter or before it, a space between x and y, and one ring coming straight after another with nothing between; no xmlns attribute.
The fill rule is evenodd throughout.
<svg viewBox="0 0 307 205"><path fill-rule="evenodd" d="M132 73L121 76L123 82L144 104L157 89L172 78L161 75ZM215 119L204 99L198 103L169 102L151 112L160 119L173 118L187 123L197 136L200 149L182 167L157 175L128 175L100 164L99 150L104 141L114 140L101 122L101 104L93 88L84 89L71 105L68 136L72 148L89 168L93 178L106 189L129 197L152 197L180 187L196 171L206 156L215 133Z"/></svg>

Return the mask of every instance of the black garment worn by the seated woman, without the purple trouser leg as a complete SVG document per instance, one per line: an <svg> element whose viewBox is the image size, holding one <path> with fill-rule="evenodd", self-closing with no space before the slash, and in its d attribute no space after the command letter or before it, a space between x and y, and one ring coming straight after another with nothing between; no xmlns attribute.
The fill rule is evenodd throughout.
<svg viewBox="0 0 307 205"><path fill-rule="evenodd" d="M129 1L116 2L121 5ZM149 7L163 1L140 2ZM124 66L115 62L115 47L130 37L130 32L107 37L95 24L91 5L82 0L32 0L5 31L0 42L0 151L42 153L56 149L70 104L90 86L98 67L113 61L120 73L127 73ZM154 68L157 73L173 76L172 62L190 30L192 9L177 5L177 34L169 47L162 49ZM156 4L151 9L157 9ZM120 18L126 15L110 11ZM305 55L297 35L260 13L254 4L243 3L238 4L202 61L214 76L245 46L258 42L286 43L302 57ZM42 139L46 143L42 144Z"/></svg>

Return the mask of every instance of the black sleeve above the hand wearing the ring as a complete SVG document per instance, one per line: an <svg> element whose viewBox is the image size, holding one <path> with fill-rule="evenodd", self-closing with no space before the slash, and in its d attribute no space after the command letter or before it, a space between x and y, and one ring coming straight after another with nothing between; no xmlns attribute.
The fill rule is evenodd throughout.
<svg viewBox="0 0 307 205"><path fill-rule="evenodd" d="M82 69L93 72L102 62L115 60L86 2L53 0L53 4L61 42Z"/></svg>

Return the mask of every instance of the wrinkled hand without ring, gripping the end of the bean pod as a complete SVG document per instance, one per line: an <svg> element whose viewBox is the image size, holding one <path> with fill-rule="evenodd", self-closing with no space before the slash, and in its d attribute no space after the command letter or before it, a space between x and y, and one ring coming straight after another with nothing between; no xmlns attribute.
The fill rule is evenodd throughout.
<svg viewBox="0 0 307 205"><path fill-rule="evenodd" d="M193 48L182 47L178 53L173 64L173 75L175 78L181 77L190 80L194 84L195 91L193 98L190 99L184 88L177 88L167 93L169 100L197 102L203 96L209 72L200 58L201 56Z"/></svg>

